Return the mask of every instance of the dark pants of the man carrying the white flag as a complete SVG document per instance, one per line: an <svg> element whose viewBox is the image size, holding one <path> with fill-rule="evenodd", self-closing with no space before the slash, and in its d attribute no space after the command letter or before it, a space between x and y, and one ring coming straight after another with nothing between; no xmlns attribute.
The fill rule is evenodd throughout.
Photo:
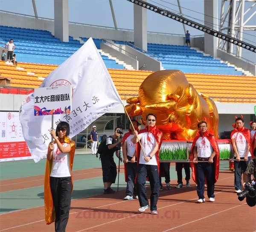
<svg viewBox="0 0 256 232"><path fill-rule="evenodd" d="M137 176L137 192L140 206L148 205L147 191L145 187L146 177L150 182L150 210L157 210L157 200L159 196L159 174L157 165L139 164Z"/></svg>

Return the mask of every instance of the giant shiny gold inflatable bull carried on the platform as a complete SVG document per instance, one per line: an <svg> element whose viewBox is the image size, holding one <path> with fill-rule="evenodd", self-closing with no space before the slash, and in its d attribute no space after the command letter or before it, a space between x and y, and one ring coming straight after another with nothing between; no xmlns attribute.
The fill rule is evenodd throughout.
<svg viewBox="0 0 256 232"><path fill-rule="evenodd" d="M163 70L150 74L140 85L139 97L131 97L125 106L130 117L157 115L157 128L164 139L192 140L198 120L206 120L208 131L218 138L218 111L210 98L199 95L183 72Z"/></svg>

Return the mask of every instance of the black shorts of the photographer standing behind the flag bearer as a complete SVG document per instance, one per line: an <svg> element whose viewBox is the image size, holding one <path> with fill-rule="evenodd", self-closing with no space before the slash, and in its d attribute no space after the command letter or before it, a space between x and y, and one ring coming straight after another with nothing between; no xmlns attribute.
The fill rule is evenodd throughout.
<svg viewBox="0 0 256 232"><path fill-rule="evenodd" d="M103 182L111 182L115 183L116 182L116 163L114 160L101 160L102 162L102 177L103 177Z"/></svg>

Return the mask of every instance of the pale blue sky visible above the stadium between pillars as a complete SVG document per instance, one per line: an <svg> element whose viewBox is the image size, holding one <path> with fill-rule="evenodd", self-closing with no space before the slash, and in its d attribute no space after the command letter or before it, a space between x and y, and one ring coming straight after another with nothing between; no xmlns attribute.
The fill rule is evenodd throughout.
<svg viewBox="0 0 256 232"><path fill-rule="evenodd" d="M218 9L221 7L221 0L215 0ZM118 28L133 29L133 3L127 0L112 0ZM177 0L148 0L148 3L157 5L163 9L178 12ZM35 0L39 17L54 18L53 0ZM246 3L247 4L247 3ZM250 3L251 4L251 3ZM180 0L182 13L191 20L204 24L204 0ZM246 8L246 6L245 6ZM20 14L34 15L32 0L0 0L0 10L11 11ZM86 23L99 26L114 27L109 0L69 0L69 21L76 23ZM148 11L148 31L165 32L172 34L184 34L183 25ZM250 25L256 25L256 17L250 21ZM192 35L202 34L200 31L186 26ZM254 42L256 32L244 31L244 41ZM245 51L247 52L247 51ZM249 60L256 60L253 52L243 52L243 56Z"/></svg>

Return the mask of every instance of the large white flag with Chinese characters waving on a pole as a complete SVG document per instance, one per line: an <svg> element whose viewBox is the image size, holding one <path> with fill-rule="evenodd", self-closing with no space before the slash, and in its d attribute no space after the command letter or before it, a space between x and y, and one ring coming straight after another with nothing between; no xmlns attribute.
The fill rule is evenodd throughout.
<svg viewBox="0 0 256 232"><path fill-rule="evenodd" d="M69 137L74 137L110 109L122 104L92 38L51 72L40 87L63 85L72 86L72 112L54 115L54 128L59 121L68 122ZM20 107L23 136L35 162L47 156L51 118L51 115L34 116L34 93L26 97Z"/></svg>

